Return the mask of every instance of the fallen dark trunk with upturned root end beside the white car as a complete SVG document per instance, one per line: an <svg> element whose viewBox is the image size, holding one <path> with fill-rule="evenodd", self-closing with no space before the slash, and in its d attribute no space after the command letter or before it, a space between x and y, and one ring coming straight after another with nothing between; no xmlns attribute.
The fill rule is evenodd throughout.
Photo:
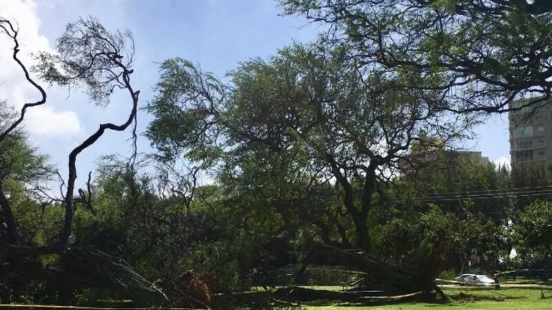
<svg viewBox="0 0 552 310"><path fill-rule="evenodd" d="M358 279L351 283L352 288L349 289L350 292L355 292L357 295L352 294L351 296L364 296L368 298L380 295L395 296L415 293L418 300L431 302L445 301L444 294L435 285L436 272L440 270L439 265L442 264L442 258L439 256L428 258L420 265L399 266L375 258L362 249L336 247L335 245L326 245L324 243L312 245L306 250L308 254L302 259L297 256L297 251L293 251L289 247L282 246L277 251L279 251L279 260L267 260L264 266L255 265L250 268L257 271L257 273L265 274L289 273L292 271L292 274L295 273L295 283L299 285L299 283L305 283L303 280L304 272L310 265L339 267L339 269L324 270L349 271L359 276ZM266 252L264 255L267 258L276 257L272 254L272 252ZM274 277L268 278L275 280ZM264 288L277 287L274 283L269 283L269 279L267 279L268 282L267 280L263 281L266 283ZM291 282L287 282L286 285L292 283L294 279L288 278L288 280ZM253 282L253 285L259 285L260 283ZM278 281L278 283L282 283L282 281ZM280 285L283 285L283 283ZM315 299L328 299L319 290L310 292L307 295Z"/></svg>

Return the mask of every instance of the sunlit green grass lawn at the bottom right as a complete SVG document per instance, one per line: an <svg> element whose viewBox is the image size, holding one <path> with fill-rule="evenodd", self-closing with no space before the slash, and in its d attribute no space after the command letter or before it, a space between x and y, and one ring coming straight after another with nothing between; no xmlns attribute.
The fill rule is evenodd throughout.
<svg viewBox="0 0 552 310"><path fill-rule="evenodd" d="M552 292L540 298L540 289L446 289L449 304L404 303L373 307L306 306L304 310L454 310L454 309L552 309Z"/></svg>

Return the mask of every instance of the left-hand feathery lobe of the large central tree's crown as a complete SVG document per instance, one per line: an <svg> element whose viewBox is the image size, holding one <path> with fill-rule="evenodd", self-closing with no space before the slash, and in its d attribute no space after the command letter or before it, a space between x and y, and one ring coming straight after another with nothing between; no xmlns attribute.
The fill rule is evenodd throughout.
<svg viewBox="0 0 552 310"><path fill-rule="evenodd" d="M174 160L186 147L195 161L212 164L220 156L216 147L215 101L224 98L225 88L210 73L199 72L184 59L161 63L159 96L146 110L157 116L146 135L167 160ZM197 99L197 100L195 100ZM213 146L212 146L213 145ZM212 153L212 154L211 154Z"/></svg>

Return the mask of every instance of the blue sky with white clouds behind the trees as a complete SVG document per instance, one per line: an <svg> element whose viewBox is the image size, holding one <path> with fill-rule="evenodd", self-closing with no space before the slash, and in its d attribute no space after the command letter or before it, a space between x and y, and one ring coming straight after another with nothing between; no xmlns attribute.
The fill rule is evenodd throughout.
<svg viewBox="0 0 552 310"><path fill-rule="evenodd" d="M20 54L28 64L33 63L31 53L53 51L65 25L81 17L96 17L108 30L131 30L136 43L132 83L141 91L141 107L155 95L159 63L165 59L188 59L222 77L242 61L316 38L319 26L302 17L282 17L281 12L275 0L0 0L0 17L19 25ZM19 109L39 99L39 93L26 83L11 53L12 43L0 37L0 99ZM30 143L48 154L62 174L70 150L99 123L121 123L128 116L124 94L115 94L108 107L97 107L81 90L48 86L47 92L48 103L29 110L24 125ZM138 117L138 130L144 132L151 116L142 110ZM487 119L467 145L495 163L509 164L507 123L506 115ZM100 156L128 156L128 138L130 132L107 132L86 149L77 161L80 181L94 171ZM139 152L152 152L144 136L138 147Z"/></svg>

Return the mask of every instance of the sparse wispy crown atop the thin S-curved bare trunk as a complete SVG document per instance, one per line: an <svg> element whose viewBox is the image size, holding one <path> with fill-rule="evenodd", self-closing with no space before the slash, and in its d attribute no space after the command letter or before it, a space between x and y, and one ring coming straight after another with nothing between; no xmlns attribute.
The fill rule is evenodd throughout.
<svg viewBox="0 0 552 310"><path fill-rule="evenodd" d="M124 88L121 66L132 68L135 46L130 31L109 32L88 17L68 23L56 50L37 54L32 69L49 83L86 87L93 102L107 105L114 90Z"/></svg>

